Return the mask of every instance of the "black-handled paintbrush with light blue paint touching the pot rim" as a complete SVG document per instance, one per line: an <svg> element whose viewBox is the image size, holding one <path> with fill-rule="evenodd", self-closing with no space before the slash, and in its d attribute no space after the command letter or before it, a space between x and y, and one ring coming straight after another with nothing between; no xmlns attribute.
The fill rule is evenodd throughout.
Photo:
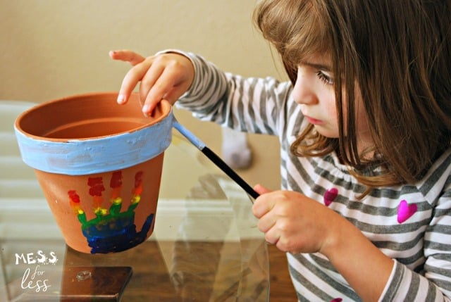
<svg viewBox="0 0 451 302"><path fill-rule="evenodd" d="M215 165L217 165L218 168L223 170L223 172L225 172L226 175L228 175L228 177L230 177L234 182L236 182L240 187L242 187L242 189L244 189L247 192L247 194L252 196L252 198L254 199L257 199L257 197L259 197L259 194L254 189L252 189L252 187L249 186L249 184L247 184L247 182L245 182L245 180L243 180L240 177L240 175L237 175L237 173L232 168L230 168L225 161L223 161L219 156L217 156L216 153L214 153L214 151L211 151L211 149L209 149L209 147L207 147L204 144L204 142L201 141L198 137L192 134L192 132L183 127L183 125L180 125L180 123L177 120L175 120L175 118L173 122L173 127L177 129L178 132L180 132L180 134L186 137L186 139L190 141L191 144L196 146L197 149L199 149L202 153L204 153L204 155L207 158L209 158L209 160L212 161Z"/></svg>

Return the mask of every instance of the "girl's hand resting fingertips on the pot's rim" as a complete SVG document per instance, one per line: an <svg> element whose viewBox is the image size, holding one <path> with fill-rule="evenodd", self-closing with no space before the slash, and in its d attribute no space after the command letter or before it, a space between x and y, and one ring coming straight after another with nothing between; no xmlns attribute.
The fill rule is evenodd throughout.
<svg viewBox="0 0 451 302"><path fill-rule="evenodd" d="M110 51L113 60L125 61L133 67L125 75L119 90L118 103L126 103L138 82L142 112L150 115L162 99L175 103L194 80L194 66L180 54L167 53L144 58L133 51Z"/></svg>

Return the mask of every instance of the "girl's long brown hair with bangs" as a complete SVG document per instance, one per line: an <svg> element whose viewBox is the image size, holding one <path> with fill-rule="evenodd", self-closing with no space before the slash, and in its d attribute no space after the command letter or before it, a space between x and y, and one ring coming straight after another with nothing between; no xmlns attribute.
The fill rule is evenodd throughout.
<svg viewBox="0 0 451 302"><path fill-rule="evenodd" d="M339 138L309 125L292 144L297 156L337 151L371 189L416 182L450 147L451 0L264 0L254 20L293 84L303 58L328 54L333 64ZM356 96L374 142L363 153Z"/></svg>

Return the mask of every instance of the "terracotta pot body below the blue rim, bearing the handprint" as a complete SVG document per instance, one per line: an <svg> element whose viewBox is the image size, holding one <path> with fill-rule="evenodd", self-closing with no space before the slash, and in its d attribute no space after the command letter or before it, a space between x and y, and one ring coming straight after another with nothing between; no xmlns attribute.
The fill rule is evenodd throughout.
<svg viewBox="0 0 451 302"><path fill-rule="evenodd" d="M116 253L151 236L162 165L163 153L112 172L45 173L38 179L68 246L83 253Z"/></svg>

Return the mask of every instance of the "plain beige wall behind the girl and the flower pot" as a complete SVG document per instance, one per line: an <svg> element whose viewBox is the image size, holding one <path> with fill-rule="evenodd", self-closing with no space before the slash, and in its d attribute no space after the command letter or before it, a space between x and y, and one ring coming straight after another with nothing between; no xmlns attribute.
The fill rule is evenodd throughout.
<svg viewBox="0 0 451 302"><path fill-rule="evenodd" d="M273 54L252 25L255 0L0 0L0 99L47 101L82 92L117 90L128 70L111 49L143 55L167 48L202 54L223 70L282 77ZM183 122L218 151L218 129ZM251 137L264 167L249 182L277 186L273 139ZM266 163L271 162L271 163ZM276 169L276 170L274 170ZM261 177L266 170L271 177ZM246 171L243 172L246 175ZM254 179L254 178L255 179Z"/></svg>

